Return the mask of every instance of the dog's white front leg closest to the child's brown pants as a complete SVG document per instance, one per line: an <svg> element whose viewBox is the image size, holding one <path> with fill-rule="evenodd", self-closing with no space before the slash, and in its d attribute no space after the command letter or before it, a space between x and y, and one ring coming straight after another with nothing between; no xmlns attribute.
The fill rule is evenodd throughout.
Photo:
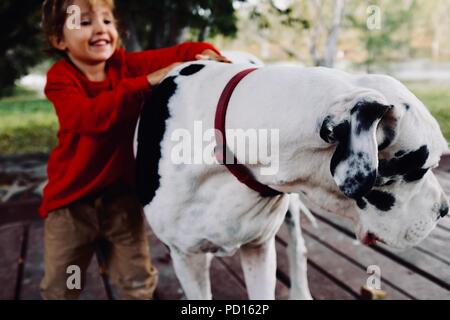
<svg viewBox="0 0 450 320"><path fill-rule="evenodd" d="M211 300L209 267L212 255L184 254L171 248L170 256L186 297L189 300Z"/></svg>

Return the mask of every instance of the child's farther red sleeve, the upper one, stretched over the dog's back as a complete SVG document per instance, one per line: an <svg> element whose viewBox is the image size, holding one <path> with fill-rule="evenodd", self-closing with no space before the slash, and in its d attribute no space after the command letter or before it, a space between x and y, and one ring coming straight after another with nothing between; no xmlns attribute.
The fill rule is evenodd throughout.
<svg viewBox="0 0 450 320"><path fill-rule="evenodd" d="M175 62L195 60L195 56L206 49L220 54L219 50L207 42L185 42L164 49L127 53L128 72L133 77L148 75Z"/></svg>

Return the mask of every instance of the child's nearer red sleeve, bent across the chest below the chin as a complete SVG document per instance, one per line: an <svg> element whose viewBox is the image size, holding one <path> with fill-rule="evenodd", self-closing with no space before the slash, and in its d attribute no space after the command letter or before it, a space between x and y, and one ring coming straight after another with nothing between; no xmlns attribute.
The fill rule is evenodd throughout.
<svg viewBox="0 0 450 320"><path fill-rule="evenodd" d="M45 94L55 107L61 130L97 134L119 120L137 119L149 88L145 76L122 79L114 90L90 98L70 76L50 71Z"/></svg>

